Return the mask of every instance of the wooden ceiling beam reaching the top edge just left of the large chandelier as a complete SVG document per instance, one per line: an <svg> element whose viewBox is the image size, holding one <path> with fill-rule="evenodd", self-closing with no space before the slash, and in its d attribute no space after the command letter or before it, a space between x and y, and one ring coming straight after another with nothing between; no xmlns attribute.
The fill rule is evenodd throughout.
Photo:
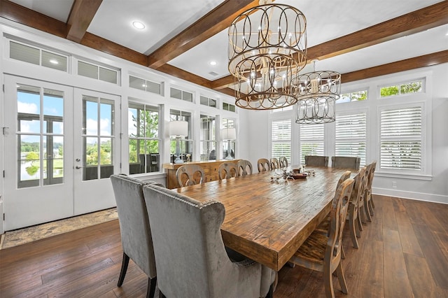
<svg viewBox="0 0 448 298"><path fill-rule="evenodd" d="M148 67L158 69L163 64L194 48L211 36L230 27L244 10L258 6L258 0L227 0L201 17L180 34L148 55Z"/></svg>

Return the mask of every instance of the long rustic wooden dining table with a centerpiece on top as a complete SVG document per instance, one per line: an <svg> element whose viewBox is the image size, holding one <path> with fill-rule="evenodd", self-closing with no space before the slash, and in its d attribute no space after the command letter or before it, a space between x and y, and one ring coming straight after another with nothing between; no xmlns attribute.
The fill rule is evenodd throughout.
<svg viewBox="0 0 448 298"><path fill-rule="evenodd" d="M198 201L220 201L225 206L225 246L279 271L330 213L337 181L346 169L307 171L315 174L276 180L281 170L266 171L175 191Z"/></svg>

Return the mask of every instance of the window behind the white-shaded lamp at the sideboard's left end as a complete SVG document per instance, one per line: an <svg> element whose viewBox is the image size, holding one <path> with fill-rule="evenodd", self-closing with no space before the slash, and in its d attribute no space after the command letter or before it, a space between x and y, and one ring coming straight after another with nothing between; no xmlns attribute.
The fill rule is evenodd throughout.
<svg viewBox="0 0 448 298"><path fill-rule="evenodd" d="M183 161L187 161L188 157L193 161L193 134L192 134L192 122L191 122L191 113L177 110L169 110L169 120L170 121L186 121L188 122L188 136L180 140L181 146L181 158ZM171 162L174 162L176 158L174 156L176 152L176 139L170 136L169 141L169 152L171 153ZM188 156L189 155L189 156Z"/></svg>

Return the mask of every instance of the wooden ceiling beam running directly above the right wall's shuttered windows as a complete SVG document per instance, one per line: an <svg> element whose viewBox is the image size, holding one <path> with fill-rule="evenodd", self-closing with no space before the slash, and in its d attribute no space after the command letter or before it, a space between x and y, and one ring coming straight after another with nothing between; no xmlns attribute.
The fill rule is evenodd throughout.
<svg viewBox="0 0 448 298"><path fill-rule="evenodd" d="M442 63L448 63L448 50L444 50L441 52L434 52L432 54L404 59L397 62L392 62L379 66L374 66L368 69L360 69L359 71L342 73L341 83L349 83L356 80L373 78L376 76L385 76L391 73L398 73L400 71L409 71L411 69L419 69L421 67Z"/></svg>

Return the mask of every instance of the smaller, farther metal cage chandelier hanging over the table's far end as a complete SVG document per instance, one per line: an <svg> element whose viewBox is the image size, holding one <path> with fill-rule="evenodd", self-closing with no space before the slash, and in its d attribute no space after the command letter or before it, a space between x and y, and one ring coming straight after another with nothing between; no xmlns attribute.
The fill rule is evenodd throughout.
<svg viewBox="0 0 448 298"><path fill-rule="evenodd" d="M297 118L298 124L318 124L334 122L336 100L341 92L341 75L335 71L314 71L297 78Z"/></svg>

